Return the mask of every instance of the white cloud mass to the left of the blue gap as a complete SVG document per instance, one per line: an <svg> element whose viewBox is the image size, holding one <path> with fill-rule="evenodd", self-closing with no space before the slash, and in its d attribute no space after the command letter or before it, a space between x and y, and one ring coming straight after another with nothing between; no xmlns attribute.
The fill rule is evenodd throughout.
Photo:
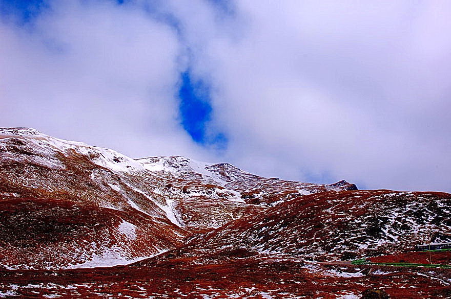
<svg viewBox="0 0 451 299"><path fill-rule="evenodd" d="M0 26L2 126L131 156L201 152L177 120L184 65L173 28L133 5L51 7L31 28Z"/></svg>

